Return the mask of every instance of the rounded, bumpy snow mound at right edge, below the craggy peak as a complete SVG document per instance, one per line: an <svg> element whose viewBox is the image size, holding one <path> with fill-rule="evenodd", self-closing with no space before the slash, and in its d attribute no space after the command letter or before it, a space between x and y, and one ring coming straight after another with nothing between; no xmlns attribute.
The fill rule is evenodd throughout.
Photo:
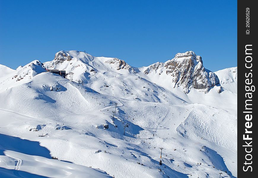
<svg viewBox="0 0 258 178"><path fill-rule="evenodd" d="M191 140L205 139L237 152L237 116L203 106L190 112L176 131ZM231 140L230 142L228 142Z"/></svg>

